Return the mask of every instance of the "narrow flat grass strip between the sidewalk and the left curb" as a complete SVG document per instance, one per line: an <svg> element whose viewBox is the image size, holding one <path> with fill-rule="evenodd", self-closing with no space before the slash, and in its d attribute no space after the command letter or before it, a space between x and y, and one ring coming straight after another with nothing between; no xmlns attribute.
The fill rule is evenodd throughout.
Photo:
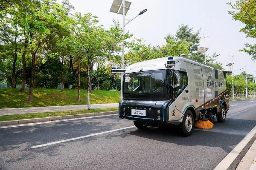
<svg viewBox="0 0 256 170"><path fill-rule="evenodd" d="M3 115L0 116L1 121L9 120L21 120L21 119L35 119L43 117L54 117L54 116L66 116L66 115L76 115L76 114L86 114L86 113L99 113L107 111L118 111L118 108L98 108L98 109L81 109L76 111L58 111L58 112L46 112L46 113L26 113L26 114L16 114L16 115Z"/></svg>

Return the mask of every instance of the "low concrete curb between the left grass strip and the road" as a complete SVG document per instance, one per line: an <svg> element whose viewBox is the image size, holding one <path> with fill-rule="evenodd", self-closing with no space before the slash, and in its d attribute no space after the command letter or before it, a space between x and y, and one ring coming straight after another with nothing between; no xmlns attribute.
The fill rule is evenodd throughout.
<svg viewBox="0 0 256 170"><path fill-rule="evenodd" d="M74 119L74 118L90 117L90 116L102 116L102 115L117 114L117 113L118 111L110 111L110 112L76 114L76 115L67 115L67 116L44 117L44 118L35 118L35 119L11 120L11 121L0 122L0 126L22 125L27 123L48 122L48 121Z"/></svg>

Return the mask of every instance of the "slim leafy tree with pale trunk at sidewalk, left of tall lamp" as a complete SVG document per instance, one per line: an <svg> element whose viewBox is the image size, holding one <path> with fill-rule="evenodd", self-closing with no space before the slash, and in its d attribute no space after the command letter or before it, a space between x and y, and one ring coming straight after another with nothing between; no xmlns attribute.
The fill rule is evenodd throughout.
<svg viewBox="0 0 256 170"><path fill-rule="evenodd" d="M105 30L96 16L90 13L82 16L75 14L76 23L73 24L73 36L65 39L71 45L71 54L78 56L78 101L80 99L80 62L86 65L88 75L87 105L90 110L90 87L91 72L95 61L102 56L111 56L120 50L122 40L129 37L129 34L122 35L122 29L119 23L114 22L110 30Z"/></svg>

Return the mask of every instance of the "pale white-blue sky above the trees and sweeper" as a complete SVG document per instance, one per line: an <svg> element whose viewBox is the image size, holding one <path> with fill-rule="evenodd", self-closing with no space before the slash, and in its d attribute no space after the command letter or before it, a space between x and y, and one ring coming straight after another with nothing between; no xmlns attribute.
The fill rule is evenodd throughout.
<svg viewBox="0 0 256 170"><path fill-rule="evenodd" d="M251 57L239 51L245 43L255 44L255 40L246 38L239 32L244 24L232 20L227 12L232 10L227 4L230 0L128 0L130 9L125 16L125 23L136 17L140 11L147 9L125 26L136 38L143 38L145 44L153 46L165 44L164 37L175 35L179 25L188 25L193 31L200 31L200 46L208 47L206 54L220 54L217 61L224 70L230 70L226 65L232 62L234 75L246 71L256 76L256 63ZM235 0L231 0L234 3ZM99 23L106 29L110 28L113 20L119 20L122 26L122 15L110 12L113 0L70 0L75 7L74 12L88 12L98 17ZM241 69L241 70L240 70Z"/></svg>

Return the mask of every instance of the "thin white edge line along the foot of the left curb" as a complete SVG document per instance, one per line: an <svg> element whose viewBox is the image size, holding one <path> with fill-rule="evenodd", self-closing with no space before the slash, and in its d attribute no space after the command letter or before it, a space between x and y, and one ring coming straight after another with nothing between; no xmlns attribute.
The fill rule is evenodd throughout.
<svg viewBox="0 0 256 170"><path fill-rule="evenodd" d="M0 129L9 128L9 127L19 127L19 126L29 126L29 125L39 125L39 124L47 124L47 123L55 123L55 122L64 122L64 121L70 121L70 120L90 119L90 118L95 118L95 117L104 117L104 116L111 116L111 115L118 115L118 113L117 114L99 115L99 116L90 116L90 117L81 117L81 118L72 118L72 119L63 119L63 120L54 120L54 121L38 122L38 123L27 123L27 124L21 124L21 125L2 126L2 127L0 127Z"/></svg>

